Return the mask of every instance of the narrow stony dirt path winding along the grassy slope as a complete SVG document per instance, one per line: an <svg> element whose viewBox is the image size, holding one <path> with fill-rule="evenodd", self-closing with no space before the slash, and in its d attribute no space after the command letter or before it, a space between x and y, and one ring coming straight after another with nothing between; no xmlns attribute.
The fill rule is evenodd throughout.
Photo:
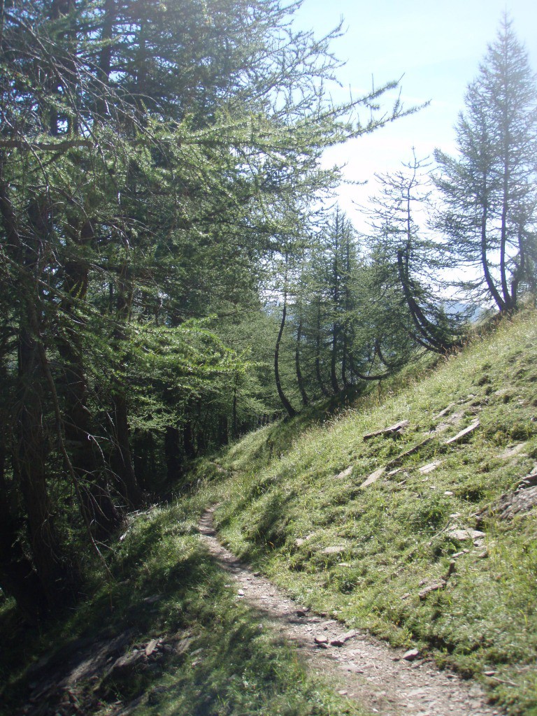
<svg viewBox="0 0 537 716"><path fill-rule="evenodd" d="M306 613L218 542L212 509L203 513L200 533L213 558L233 576L235 584L230 587L236 588L237 599L244 599L260 611L281 637L304 654L311 669L329 678L339 693L383 716L502 713L486 705L478 684L441 672L435 664L419 657L408 662L402 658L402 649L392 649L367 632L346 632L338 621ZM331 644L338 640L341 646Z"/></svg>

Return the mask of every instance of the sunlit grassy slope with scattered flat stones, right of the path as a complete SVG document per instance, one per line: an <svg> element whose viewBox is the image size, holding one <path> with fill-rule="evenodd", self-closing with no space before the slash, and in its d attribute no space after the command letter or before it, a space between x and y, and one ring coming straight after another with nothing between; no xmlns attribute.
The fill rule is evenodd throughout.
<svg viewBox="0 0 537 716"><path fill-rule="evenodd" d="M307 427L302 416L246 436L218 458L231 477L208 463L199 468L212 472L218 526L239 556L314 609L395 644L417 643L440 664L477 675L524 714L537 713L536 513L485 519L486 556L446 528L475 528L474 513L536 463L536 318L531 311L505 321L459 356L413 377L407 371L331 422ZM359 488L455 413L458 424L400 460L397 473ZM466 442L444 444L475 417L480 428ZM405 419L401 437L363 440ZM520 442L521 453L503 456ZM435 460L435 470L419 472ZM324 553L329 546L342 551ZM464 549L445 589L420 599Z"/></svg>

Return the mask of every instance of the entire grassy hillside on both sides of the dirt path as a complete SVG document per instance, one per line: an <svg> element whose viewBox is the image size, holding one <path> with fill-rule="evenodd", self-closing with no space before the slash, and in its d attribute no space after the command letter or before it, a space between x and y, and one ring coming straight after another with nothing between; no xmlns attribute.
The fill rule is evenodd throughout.
<svg viewBox="0 0 537 716"><path fill-rule="evenodd" d="M4 712L358 713L228 589L198 531L218 504L220 538L296 601L537 713L536 338L523 312L200 460L193 493L132 514L76 611L38 633L0 603Z"/></svg>

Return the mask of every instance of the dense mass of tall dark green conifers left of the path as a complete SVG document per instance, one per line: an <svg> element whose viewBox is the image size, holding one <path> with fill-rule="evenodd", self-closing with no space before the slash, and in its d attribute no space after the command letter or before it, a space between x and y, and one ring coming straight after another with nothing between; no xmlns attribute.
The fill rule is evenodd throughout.
<svg viewBox="0 0 537 716"><path fill-rule="evenodd" d="M1 11L0 584L35 621L81 539L261 412L263 261L334 184L324 147L401 110L328 102L330 36L272 0Z"/></svg>

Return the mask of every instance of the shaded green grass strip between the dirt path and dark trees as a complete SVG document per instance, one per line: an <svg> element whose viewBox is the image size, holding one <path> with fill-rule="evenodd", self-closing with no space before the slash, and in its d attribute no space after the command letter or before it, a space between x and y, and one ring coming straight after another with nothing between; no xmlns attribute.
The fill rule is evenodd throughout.
<svg viewBox="0 0 537 716"><path fill-rule="evenodd" d="M65 663L79 639L114 639L127 629L127 654L161 637L184 649L136 667L127 678L78 684L84 713L105 716L117 702L135 702L135 716L359 716L352 702L307 674L294 651L271 634L238 599L208 556L195 524L203 501L154 508L130 524L118 541L106 578L96 567L89 598L41 633L14 629L13 604L0 609L5 634L0 653L0 711L12 714L37 676L32 663Z"/></svg>

